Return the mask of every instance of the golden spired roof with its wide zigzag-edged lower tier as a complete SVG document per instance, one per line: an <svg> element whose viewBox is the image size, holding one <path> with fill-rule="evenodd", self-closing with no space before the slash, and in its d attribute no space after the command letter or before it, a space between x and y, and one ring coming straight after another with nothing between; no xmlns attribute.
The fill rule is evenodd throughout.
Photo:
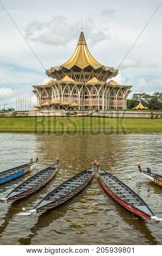
<svg viewBox="0 0 162 256"><path fill-rule="evenodd" d="M63 65L46 70L46 74L57 80L63 80L65 76L68 76L76 82L86 83L92 79L106 82L109 78L116 76L118 70L97 62L89 52L84 33L81 32L77 48L71 58Z"/></svg>

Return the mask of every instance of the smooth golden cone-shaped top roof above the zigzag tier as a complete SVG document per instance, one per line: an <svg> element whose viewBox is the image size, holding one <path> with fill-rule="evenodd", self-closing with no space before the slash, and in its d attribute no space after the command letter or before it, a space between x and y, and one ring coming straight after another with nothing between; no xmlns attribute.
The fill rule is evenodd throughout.
<svg viewBox="0 0 162 256"><path fill-rule="evenodd" d="M97 62L97 60L94 59L89 52L83 32L80 33L76 50L72 54L71 58L68 59L67 62L65 62L62 66L65 66L67 69L71 69L74 65L79 66L81 69L88 65L91 65L94 69L102 66L102 64Z"/></svg>

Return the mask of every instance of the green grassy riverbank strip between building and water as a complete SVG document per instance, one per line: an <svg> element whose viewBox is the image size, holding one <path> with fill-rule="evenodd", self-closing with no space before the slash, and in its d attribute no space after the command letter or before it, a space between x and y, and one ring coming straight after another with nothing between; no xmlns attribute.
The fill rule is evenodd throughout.
<svg viewBox="0 0 162 256"><path fill-rule="evenodd" d="M128 132L160 133L162 119L98 117L0 118L0 132Z"/></svg>

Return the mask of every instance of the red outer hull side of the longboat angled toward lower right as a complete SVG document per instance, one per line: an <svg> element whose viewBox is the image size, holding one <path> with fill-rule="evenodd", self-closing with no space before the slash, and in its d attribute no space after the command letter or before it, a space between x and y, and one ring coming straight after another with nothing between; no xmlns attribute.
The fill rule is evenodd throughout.
<svg viewBox="0 0 162 256"><path fill-rule="evenodd" d="M127 204L126 202L124 202L122 199L120 199L119 197L117 197L102 181L102 179L99 177L99 181L102 185L102 187L104 188L104 190L120 205L122 205L124 208L126 208L128 211L133 212L133 214L138 215L142 218L145 218L147 221L151 221L151 216L144 214L144 212L139 211L138 209L134 208L133 206Z"/></svg>

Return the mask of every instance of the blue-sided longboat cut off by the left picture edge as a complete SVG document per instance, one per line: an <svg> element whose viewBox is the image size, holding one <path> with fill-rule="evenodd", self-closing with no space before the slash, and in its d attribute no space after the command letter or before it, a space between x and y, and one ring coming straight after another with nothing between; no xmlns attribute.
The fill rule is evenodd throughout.
<svg viewBox="0 0 162 256"><path fill-rule="evenodd" d="M4 170L0 173L0 184L14 180L21 175L27 173L29 170L32 170L35 167L35 164L38 162L38 157L35 161L31 161L30 163L23 164L22 166L18 166L9 170Z"/></svg>

